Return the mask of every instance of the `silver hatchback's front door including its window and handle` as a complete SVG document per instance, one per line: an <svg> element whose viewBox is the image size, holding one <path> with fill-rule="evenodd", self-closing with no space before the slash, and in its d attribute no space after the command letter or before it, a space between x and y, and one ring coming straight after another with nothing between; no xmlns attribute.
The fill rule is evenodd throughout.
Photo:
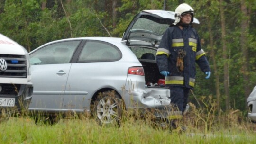
<svg viewBox="0 0 256 144"><path fill-rule="evenodd" d="M30 110L55 111L62 107L70 61L80 42L52 43L29 55L34 85Z"/></svg>

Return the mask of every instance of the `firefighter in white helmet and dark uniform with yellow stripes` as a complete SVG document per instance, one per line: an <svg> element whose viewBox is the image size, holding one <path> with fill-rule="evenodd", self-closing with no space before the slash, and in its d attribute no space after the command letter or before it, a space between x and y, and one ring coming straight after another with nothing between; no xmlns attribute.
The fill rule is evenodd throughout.
<svg viewBox="0 0 256 144"><path fill-rule="evenodd" d="M171 90L171 103L182 112L189 90L195 84L195 63L206 74L206 79L211 74L199 36L192 27L193 18L192 7L180 4L175 9L175 22L165 31L156 53L159 72L165 76L165 86Z"/></svg>

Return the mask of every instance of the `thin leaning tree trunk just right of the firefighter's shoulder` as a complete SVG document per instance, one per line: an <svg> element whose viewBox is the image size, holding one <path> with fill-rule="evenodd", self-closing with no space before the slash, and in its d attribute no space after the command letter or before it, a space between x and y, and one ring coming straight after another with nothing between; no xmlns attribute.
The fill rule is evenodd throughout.
<svg viewBox="0 0 256 144"><path fill-rule="evenodd" d="M207 21L210 21L210 19L207 17ZM210 37L210 48L211 48L211 58L213 61L213 69L214 69L214 74L215 74L215 80L216 80L216 103L217 103L217 111L220 113L220 91L219 91L219 72L217 70L217 63L215 59L215 52L214 52L214 42L213 42L213 34L211 31L211 24L210 22L208 23L208 31L209 31L209 37Z"/></svg>

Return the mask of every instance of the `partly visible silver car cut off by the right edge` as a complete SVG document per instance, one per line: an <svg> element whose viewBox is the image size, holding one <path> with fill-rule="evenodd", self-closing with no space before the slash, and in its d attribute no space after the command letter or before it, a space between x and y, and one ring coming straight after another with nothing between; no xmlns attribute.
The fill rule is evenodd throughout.
<svg viewBox="0 0 256 144"><path fill-rule="evenodd" d="M249 107L248 118L252 122L256 122L256 86L253 88L251 94L247 98L247 105Z"/></svg>

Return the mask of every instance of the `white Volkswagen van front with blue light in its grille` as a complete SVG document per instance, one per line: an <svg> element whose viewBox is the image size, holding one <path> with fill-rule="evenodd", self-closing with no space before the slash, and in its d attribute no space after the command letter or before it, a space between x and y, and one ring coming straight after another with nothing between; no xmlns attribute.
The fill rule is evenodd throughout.
<svg viewBox="0 0 256 144"><path fill-rule="evenodd" d="M32 98L27 50L0 34L0 115L27 110Z"/></svg>

